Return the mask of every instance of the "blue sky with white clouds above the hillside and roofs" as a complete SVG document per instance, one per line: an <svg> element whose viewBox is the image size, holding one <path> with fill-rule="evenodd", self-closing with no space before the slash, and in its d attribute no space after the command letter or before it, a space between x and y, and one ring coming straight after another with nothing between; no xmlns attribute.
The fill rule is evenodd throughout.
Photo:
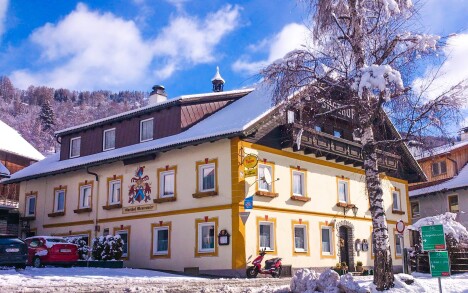
<svg viewBox="0 0 468 293"><path fill-rule="evenodd" d="M219 65L225 89L237 89L304 44L301 3L0 0L0 72L19 88L149 91L163 84L174 97L210 91ZM459 34L446 51L456 57L449 79L460 70L468 77L467 15L465 0L429 0L421 11L423 32Z"/></svg>

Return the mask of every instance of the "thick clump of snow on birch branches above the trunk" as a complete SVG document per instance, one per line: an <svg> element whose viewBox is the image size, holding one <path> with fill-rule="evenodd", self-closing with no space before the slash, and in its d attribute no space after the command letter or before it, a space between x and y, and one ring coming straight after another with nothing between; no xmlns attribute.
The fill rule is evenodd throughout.
<svg viewBox="0 0 468 293"><path fill-rule="evenodd" d="M387 88L392 85L398 90L403 89L403 80L398 70L393 69L390 65L365 66L360 69L358 78L353 84L353 89L358 91L359 97L362 97L364 88L369 91L378 90L385 93L386 99L390 98Z"/></svg>

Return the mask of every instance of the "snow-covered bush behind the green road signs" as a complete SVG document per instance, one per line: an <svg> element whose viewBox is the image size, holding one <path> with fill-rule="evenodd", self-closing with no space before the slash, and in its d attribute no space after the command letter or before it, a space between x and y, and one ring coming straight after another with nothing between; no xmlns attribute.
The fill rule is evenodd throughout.
<svg viewBox="0 0 468 293"><path fill-rule="evenodd" d="M443 225L445 235L452 235L458 242L460 242L460 240L468 240L468 231L462 224L455 221L456 217L457 214L450 212L433 217L426 217L408 226L408 229L421 231L422 226Z"/></svg>

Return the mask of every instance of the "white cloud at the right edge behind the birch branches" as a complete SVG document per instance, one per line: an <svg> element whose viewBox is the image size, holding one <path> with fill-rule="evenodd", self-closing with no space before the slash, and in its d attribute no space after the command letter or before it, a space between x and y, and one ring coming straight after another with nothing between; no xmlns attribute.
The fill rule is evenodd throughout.
<svg viewBox="0 0 468 293"><path fill-rule="evenodd" d="M443 53L446 61L440 68L439 77L429 87L427 92L429 98L435 98L463 79L468 79L468 33L450 37ZM413 86L418 90L430 80L428 71L425 76L416 79Z"/></svg>

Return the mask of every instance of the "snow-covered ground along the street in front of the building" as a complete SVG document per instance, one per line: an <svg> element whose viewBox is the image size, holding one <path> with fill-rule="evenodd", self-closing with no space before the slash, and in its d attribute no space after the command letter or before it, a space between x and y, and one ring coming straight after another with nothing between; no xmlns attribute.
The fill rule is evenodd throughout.
<svg viewBox="0 0 468 293"><path fill-rule="evenodd" d="M415 284L387 292L438 292L437 278L413 274ZM372 276L355 277L361 287L372 287ZM291 278L207 279L139 269L30 268L0 270L0 292L201 292L286 293ZM403 285L405 286L405 285ZM396 286L398 287L398 286ZM411 288L411 289L409 289ZM468 293L468 274L442 279L444 293Z"/></svg>

